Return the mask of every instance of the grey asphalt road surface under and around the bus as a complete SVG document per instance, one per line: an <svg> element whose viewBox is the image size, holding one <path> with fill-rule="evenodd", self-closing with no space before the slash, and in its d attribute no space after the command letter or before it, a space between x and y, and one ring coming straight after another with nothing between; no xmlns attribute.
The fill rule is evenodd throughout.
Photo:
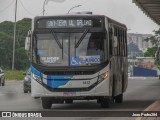
<svg viewBox="0 0 160 120"><path fill-rule="evenodd" d="M160 80L150 79L129 79L127 91L124 93L124 102L112 104L110 108L103 109L96 101L74 101L73 104L53 104L51 110L43 110L40 99L34 99L30 93L23 93L22 81L7 81L6 86L0 86L0 111L52 111L58 116L72 116L77 113L76 120L80 119L106 119L107 111L143 111L150 104L160 98ZM96 113L103 117L96 118ZM116 116L115 112L108 113ZM125 113L124 113L125 114ZM92 115L94 117L92 117ZM76 116L76 115L75 115ZM86 118L86 116L88 116ZM34 118L35 119L35 118ZM51 118L50 118L51 119ZM62 118L57 117L56 120ZM67 120L67 117L63 118ZM70 120L71 118L68 118ZM116 118L109 118L115 120ZM135 118L118 118L132 120ZM36 120L36 119L35 119ZM39 120L39 119L37 119Z"/></svg>

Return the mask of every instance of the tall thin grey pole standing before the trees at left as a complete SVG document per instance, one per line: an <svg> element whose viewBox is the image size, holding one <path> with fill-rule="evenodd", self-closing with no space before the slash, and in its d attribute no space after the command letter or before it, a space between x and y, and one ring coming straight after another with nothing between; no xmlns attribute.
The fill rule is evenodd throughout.
<svg viewBox="0 0 160 120"><path fill-rule="evenodd" d="M16 3L15 3L15 21L14 21L14 40L13 40L12 70L14 70L14 62L15 62L16 22L17 22L17 0L16 0Z"/></svg>

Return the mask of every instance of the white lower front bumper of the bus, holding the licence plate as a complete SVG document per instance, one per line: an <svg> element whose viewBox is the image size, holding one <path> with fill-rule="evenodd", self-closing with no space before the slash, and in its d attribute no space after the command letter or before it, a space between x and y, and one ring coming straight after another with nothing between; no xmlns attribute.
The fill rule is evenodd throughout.
<svg viewBox="0 0 160 120"><path fill-rule="evenodd" d="M31 95L32 97L53 97L53 98L87 98L87 97L98 97L98 96L111 96L110 92L110 83L109 80L104 80L101 83L97 84L94 88L89 91L72 91L72 92L52 92L43 87L41 84L37 83L35 80L32 80L31 85Z"/></svg>

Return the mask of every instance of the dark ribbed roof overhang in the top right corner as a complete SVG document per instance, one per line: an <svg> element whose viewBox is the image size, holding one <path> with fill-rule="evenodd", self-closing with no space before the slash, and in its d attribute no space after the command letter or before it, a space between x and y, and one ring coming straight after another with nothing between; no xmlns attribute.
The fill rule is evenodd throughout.
<svg viewBox="0 0 160 120"><path fill-rule="evenodd" d="M133 0L148 17L160 25L160 0Z"/></svg>

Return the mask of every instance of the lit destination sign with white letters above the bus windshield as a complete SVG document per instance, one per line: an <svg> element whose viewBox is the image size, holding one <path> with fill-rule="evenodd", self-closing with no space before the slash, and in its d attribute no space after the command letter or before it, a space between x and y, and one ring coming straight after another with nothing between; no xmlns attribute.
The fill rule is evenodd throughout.
<svg viewBox="0 0 160 120"><path fill-rule="evenodd" d="M93 27L92 20L82 19L49 19L38 21L39 28L83 28Z"/></svg>

